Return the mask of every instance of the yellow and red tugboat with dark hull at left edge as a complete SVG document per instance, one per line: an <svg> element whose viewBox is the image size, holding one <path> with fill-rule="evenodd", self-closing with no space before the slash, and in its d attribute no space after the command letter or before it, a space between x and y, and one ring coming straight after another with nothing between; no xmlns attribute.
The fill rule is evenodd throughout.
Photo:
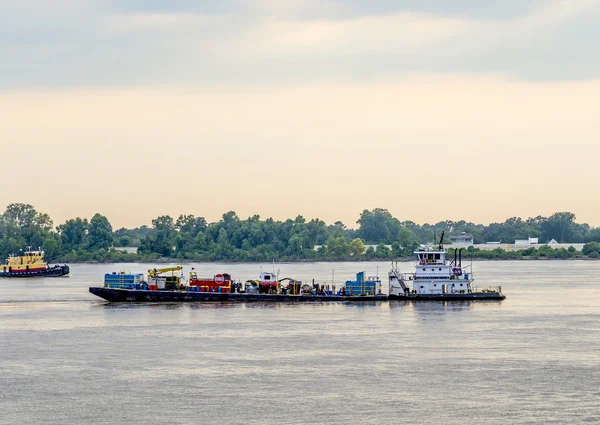
<svg viewBox="0 0 600 425"><path fill-rule="evenodd" d="M44 261L44 251L27 251L20 255L11 254L6 263L0 265L0 277L58 277L69 274L69 266L48 266Z"/></svg>

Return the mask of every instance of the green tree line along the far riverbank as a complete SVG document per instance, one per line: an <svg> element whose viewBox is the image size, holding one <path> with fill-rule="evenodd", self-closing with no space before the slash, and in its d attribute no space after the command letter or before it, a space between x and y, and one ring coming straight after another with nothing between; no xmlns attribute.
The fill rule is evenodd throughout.
<svg viewBox="0 0 600 425"><path fill-rule="evenodd" d="M317 261L386 260L412 257L419 244L434 242L442 232L448 236L466 232L475 243L512 243L515 239L538 237L541 243L586 243L584 250L544 246L523 251L492 251L469 248L476 258L571 258L600 255L600 228L575 222L570 212L523 220L509 218L489 225L466 221L416 224L400 221L382 208L364 210L356 228L341 221L326 224L302 216L285 221L241 219L233 212L209 223L203 217L168 215L152 220L151 226L114 230L102 214L91 219L72 218L55 226L50 216L32 205L10 204L0 215L0 255L18 253L27 246L42 248L49 261ZM437 242L437 241L436 241ZM133 252L123 252L133 247Z"/></svg>

